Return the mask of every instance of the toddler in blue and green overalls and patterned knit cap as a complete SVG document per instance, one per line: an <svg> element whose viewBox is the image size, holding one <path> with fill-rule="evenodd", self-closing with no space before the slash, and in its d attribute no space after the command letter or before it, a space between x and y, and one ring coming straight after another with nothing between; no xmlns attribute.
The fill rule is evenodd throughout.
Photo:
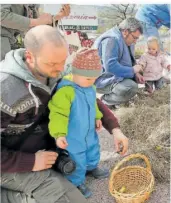
<svg viewBox="0 0 171 203"><path fill-rule="evenodd" d="M81 49L72 62L72 75L65 76L49 102L49 132L59 148L68 150L76 170L66 176L88 198L85 185L88 171L95 178L106 178L109 171L98 167L100 146L96 130L102 127L102 113L96 103L94 82L102 66L96 49Z"/></svg>

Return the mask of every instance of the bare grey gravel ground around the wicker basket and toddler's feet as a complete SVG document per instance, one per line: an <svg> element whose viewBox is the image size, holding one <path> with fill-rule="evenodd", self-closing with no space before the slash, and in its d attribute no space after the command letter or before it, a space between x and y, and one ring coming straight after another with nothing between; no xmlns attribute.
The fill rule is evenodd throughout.
<svg viewBox="0 0 171 203"><path fill-rule="evenodd" d="M113 137L104 129L99 136L101 143L100 165L105 168L113 168L116 164L116 159L119 156L114 152ZM95 180L91 177L87 177L87 185L93 192L93 196L88 199L89 203L115 203L114 198L109 194L108 179ZM147 203L171 202L169 188L169 184L156 183L155 191L151 194Z"/></svg>

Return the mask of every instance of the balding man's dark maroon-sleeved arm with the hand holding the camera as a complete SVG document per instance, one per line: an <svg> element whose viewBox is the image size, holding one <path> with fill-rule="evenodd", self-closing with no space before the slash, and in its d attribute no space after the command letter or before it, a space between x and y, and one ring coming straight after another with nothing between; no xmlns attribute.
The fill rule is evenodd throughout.
<svg viewBox="0 0 171 203"><path fill-rule="evenodd" d="M55 163L57 156L56 152L25 153L1 145L1 172L24 173L49 169Z"/></svg>

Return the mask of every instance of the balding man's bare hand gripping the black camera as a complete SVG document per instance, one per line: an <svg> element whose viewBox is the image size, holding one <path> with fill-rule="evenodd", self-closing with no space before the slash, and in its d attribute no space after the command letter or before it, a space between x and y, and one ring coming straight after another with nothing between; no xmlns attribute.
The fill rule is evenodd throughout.
<svg viewBox="0 0 171 203"><path fill-rule="evenodd" d="M32 171L41 171L51 168L55 163L58 154L50 151L38 151L35 154L35 163Z"/></svg>

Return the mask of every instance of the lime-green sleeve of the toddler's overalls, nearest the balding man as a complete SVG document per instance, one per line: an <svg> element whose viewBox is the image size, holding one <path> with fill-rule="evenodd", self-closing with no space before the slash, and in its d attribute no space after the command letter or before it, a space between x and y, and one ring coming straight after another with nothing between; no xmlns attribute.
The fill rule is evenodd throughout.
<svg viewBox="0 0 171 203"><path fill-rule="evenodd" d="M67 135L70 107L74 97L73 87L65 86L59 89L49 101L49 132L52 137Z"/></svg>

